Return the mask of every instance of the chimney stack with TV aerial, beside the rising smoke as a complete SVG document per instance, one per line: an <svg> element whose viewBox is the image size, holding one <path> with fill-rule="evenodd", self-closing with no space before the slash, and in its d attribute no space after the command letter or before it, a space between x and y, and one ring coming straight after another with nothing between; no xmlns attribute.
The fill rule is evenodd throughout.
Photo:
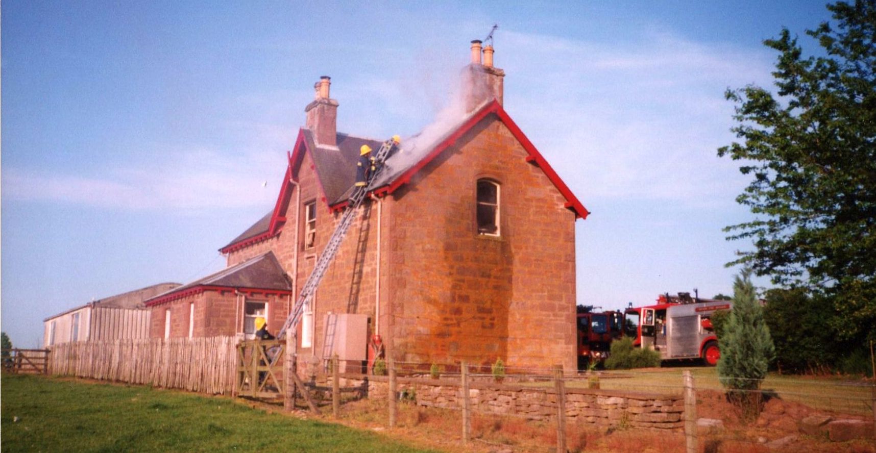
<svg viewBox="0 0 876 453"><path fill-rule="evenodd" d="M471 63L463 69L466 112L492 99L502 104L505 95L505 71L493 67L493 47L481 44L478 39L471 41Z"/></svg>

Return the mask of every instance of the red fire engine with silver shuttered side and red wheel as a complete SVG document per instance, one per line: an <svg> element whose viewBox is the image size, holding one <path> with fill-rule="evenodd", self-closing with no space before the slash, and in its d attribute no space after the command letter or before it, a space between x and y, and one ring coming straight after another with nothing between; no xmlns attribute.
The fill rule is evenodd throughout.
<svg viewBox="0 0 876 453"><path fill-rule="evenodd" d="M721 351L710 318L732 305L689 293L663 294L654 305L625 310L624 334L632 336L635 346L659 351L663 360L702 358L714 366Z"/></svg>

